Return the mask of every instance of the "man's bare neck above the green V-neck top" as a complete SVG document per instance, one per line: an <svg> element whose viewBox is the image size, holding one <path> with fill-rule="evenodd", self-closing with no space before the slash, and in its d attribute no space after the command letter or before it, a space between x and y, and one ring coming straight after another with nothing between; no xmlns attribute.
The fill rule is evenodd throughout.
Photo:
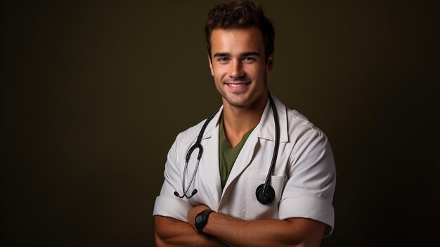
<svg viewBox="0 0 440 247"><path fill-rule="evenodd" d="M266 103L267 100L250 107L237 107L224 103L223 127L226 139L232 147L241 141L243 135L249 129L258 125Z"/></svg>

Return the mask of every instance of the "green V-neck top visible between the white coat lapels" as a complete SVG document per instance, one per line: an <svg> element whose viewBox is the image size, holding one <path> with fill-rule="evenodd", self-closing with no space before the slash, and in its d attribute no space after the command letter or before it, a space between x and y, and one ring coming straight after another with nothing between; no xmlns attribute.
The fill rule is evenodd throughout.
<svg viewBox="0 0 440 247"><path fill-rule="evenodd" d="M226 139L225 131L223 128L223 116L220 118L220 126L219 126L219 160L220 160L220 178L221 178L221 189L224 189L224 186L226 185L226 181L228 180L229 173L231 173L232 166L235 163L235 160L237 159L238 154L241 151L241 148L243 145L245 145L245 142L247 140L247 137L249 137L250 133L252 133L252 130L254 130L255 127L252 127L252 129L248 130L242 137L240 143L237 144L237 146L231 147L231 144L229 144L228 139Z"/></svg>

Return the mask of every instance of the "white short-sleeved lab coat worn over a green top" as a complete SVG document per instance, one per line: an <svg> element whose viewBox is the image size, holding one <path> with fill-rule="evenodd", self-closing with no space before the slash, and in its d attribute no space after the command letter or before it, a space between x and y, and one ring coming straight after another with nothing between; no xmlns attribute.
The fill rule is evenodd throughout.
<svg viewBox="0 0 440 247"><path fill-rule="evenodd" d="M328 225L330 234L334 224L332 198L336 171L332 150L325 134L296 110L286 108L274 98L280 122L278 159L271 177L276 191L269 205L257 201L255 190L264 184L275 144L275 124L270 103L267 103L257 127L248 137L238 155L228 181L221 190L219 173L219 116L207 125L202 139L204 153L195 175L193 189L198 193L190 199L183 195L182 177L186 153L195 143L202 121L181 132L170 148L164 171L164 183L157 196L153 215L173 217L187 222L194 205L205 204L212 210L243 220L287 219L305 217ZM193 176L198 150L188 164L186 186Z"/></svg>

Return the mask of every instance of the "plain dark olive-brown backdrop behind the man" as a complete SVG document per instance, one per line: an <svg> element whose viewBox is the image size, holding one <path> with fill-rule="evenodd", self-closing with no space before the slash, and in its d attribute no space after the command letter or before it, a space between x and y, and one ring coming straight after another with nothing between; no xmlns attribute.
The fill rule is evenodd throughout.
<svg viewBox="0 0 440 247"><path fill-rule="evenodd" d="M153 246L176 134L221 103L217 1L8 1L1 12L1 246ZM439 246L438 1L261 1L271 91L328 135L322 246Z"/></svg>

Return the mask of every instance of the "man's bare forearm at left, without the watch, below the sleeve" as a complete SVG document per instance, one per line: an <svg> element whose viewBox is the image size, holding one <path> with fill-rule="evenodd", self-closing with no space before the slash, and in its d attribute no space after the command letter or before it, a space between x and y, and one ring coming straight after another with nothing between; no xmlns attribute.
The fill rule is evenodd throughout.
<svg viewBox="0 0 440 247"><path fill-rule="evenodd" d="M210 236L195 232L193 227L186 222L162 216L155 216L155 242L158 247L226 246Z"/></svg>

